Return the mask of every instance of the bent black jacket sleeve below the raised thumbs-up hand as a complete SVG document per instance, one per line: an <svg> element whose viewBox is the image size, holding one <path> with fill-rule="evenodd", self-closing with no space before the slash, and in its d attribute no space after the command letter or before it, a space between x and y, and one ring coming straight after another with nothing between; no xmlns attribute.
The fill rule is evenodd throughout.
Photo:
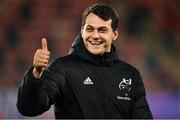
<svg viewBox="0 0 180 120"><path fill-rule="evenodd" d="M65 82L64 73L49 68L41 79L34 78L31 67L20 84L17 109L25 116L37 116L49 110L57 96L61 96Z"/></svg>

